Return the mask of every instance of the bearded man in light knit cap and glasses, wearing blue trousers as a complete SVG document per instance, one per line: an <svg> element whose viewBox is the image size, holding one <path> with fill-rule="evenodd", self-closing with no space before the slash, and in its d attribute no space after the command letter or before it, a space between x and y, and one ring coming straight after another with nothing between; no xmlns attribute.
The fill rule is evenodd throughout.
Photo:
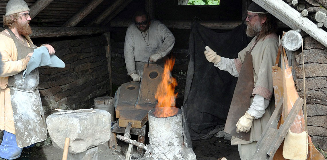
<svg viewBox="0 0 327 160"><path fill-rule="evenodd" d="M0 129L4 130L0 159L29 159L23 148L34 146L47 137L37 89L38 69L34 69L25 78L22 76L34 49L37 48L28 36L32 33L30 20L29 8L24 0L9 0L6 15L3 16L6 29L0 33L3 62L0 74ZM51 45L43 46L49 54L55 53Z"/></svg>

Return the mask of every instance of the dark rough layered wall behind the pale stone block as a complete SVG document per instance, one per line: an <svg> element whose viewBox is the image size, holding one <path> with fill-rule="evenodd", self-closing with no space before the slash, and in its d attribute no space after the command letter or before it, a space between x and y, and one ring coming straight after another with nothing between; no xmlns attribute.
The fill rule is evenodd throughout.
<svg viewBox="0 0 327 160"><path fill-rule="evenodd" d="M33 41L41 43L42 40ZM104 36L46 43L55 48L56 55L66 64L65 68L39 68L39 91L46 116L56 108L91 108L94 98L110 95L107 40Z"/></svg>

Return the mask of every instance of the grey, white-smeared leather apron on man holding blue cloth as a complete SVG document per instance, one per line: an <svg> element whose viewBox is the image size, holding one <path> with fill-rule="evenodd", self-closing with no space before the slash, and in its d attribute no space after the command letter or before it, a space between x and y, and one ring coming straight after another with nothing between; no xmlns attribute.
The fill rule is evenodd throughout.
<svg viewBox="0 0 327 160"><path fill-rule="evenodd" d="M31 47L26 47L10 29L8 31L17 48L17 60L25 58L28 53L34 51L36 46L32 42L27 40L26 43L29 43ZM45 117L37 88L39 70L36 68L24 79L22 77L23 71L9 77L7 86L10 89L17 146L20 148L44 141L47 138Z"/></svg>

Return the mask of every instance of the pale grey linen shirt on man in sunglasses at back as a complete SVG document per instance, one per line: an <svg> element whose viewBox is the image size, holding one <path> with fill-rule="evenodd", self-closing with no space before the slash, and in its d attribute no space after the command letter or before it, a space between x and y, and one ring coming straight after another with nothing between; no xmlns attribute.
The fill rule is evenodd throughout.
<svg viewBox="0 0 327 160"><path fill-rule="evenodd" d="M162 58L171 51L174 43L171 31L158 20L152 20L145 32L141 32L134 23L130 24L124 46L127 75L136 73L135 62L147 63L149 57L156 53Z"/></svg>

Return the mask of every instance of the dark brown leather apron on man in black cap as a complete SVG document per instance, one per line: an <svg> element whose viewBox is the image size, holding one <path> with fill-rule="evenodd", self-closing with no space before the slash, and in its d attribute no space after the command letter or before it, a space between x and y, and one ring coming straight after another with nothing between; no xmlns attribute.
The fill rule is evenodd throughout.
<svg viewBox="0 0 327 160"><path fill-rule="evenodd" d="M250 107L250 97L254 89L254 79L253 79L253 63L251 52L255 45L255 42L250 51L246 51L243 65L241 67L236 87L234 90L232 102L230 109L228 111L228 116L225 124L224 131L231 134L237 138L250 141L250 132L236 132L236 123L245 114L245 112Z"/></svg>

